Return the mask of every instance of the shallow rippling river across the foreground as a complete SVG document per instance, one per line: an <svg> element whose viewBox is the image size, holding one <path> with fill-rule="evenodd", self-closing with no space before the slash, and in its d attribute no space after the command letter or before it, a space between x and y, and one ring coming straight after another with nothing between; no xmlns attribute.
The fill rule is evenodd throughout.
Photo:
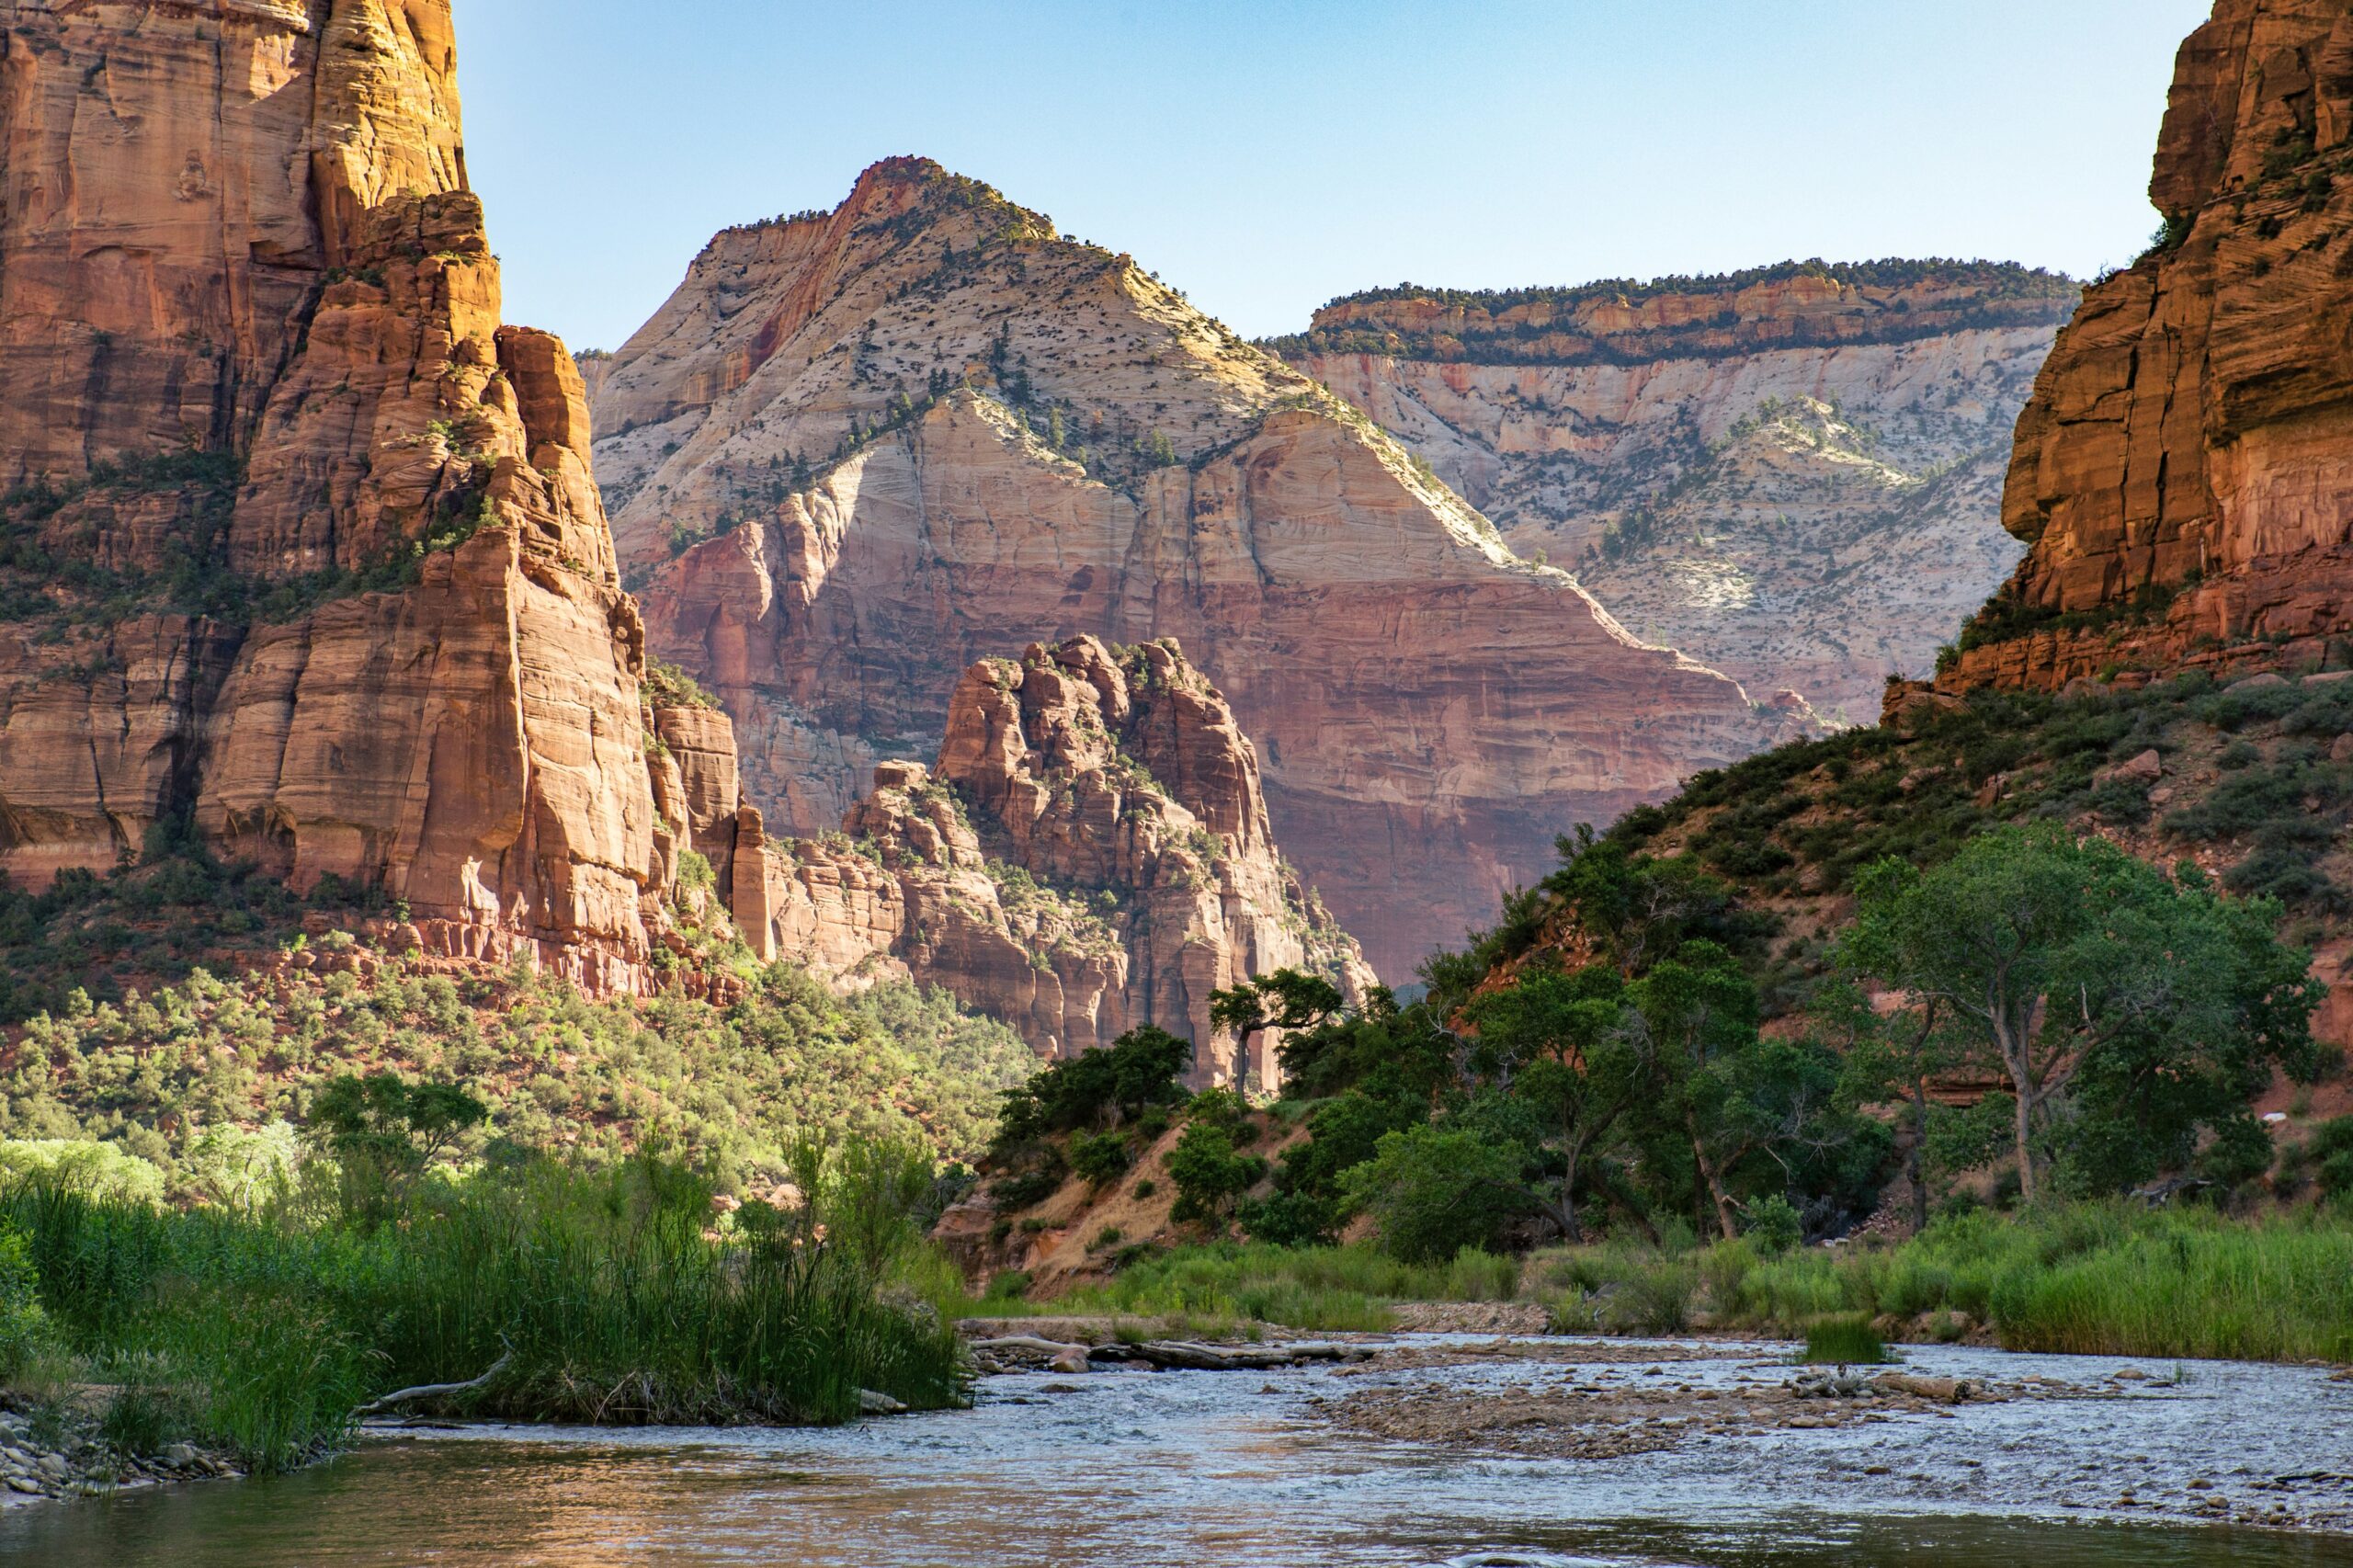
<svg viewBox="0 0 2353 1568"><path fill-rule="evenodd" d="M1624 1342L1612 1347L1624 1354ZM1661 1354L1664 1347L1661 1347ZM1706 1387L1767 1363L1678 1363ZM299 1476L0 1516L45 1568L2306 1568L2353 1566L2353 1384L2311 1368L1915 1349L1911 1370L2099 1389L1953 1420L1497 1460L1332 1431L1344 1377L993 1377L974 1410L845 1431L468 1429ZM1885 1474L1866 1474L1882 1469ZM2280 1486L2280 1476L2294 1476ZM2191 1488L2209 1481L2209 1488ZM2125 1495L2137 1504L2122 1504ZM2332 1523L2153 1523L2224 1493Z"/></svg>

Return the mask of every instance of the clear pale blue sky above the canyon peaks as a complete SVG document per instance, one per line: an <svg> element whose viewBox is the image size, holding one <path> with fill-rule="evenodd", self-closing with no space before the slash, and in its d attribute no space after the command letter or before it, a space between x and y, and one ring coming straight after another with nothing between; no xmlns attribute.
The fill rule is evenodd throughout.
<svg viewBox="0 0 2353 1568"><path fill-rule="evenodd" d="M2155 226L2207 0L456 0L508 318L614 348L713 231L922 153L1245 334L1334 294Z"/></svg>

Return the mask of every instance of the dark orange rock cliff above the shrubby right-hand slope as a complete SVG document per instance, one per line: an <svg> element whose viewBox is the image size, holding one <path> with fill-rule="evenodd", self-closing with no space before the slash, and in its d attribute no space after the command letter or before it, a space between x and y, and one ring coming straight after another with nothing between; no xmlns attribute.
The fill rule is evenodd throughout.
<svg viewBox="0 0 2353 1568"><path fill-rule="evenodd" d="M2085 294L2019 421L2031 551L1939 685L2318 664L2353 631L2353 2L2181 47L2165 240Z"/></svg>

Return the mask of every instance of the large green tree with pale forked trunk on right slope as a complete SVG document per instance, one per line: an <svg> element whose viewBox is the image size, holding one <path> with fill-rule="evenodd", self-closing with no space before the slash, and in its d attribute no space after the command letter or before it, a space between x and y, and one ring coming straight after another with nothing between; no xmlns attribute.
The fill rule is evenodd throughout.
<svg viewBox="0 0 2353 1568"><path fill-rule="evenodd" d="M1880 862L1857 895L1854 970L1951 1010L2009 1076L2028 1203L2061 1116L2078 1168L2115 1182L2202 1132L2242 1142L2275 1067L2325 1064L2311 956L2273 935L2275 904L2226 899L2193 866L2169 878L2104 838L2005 826L1927 873Z"/></svg>

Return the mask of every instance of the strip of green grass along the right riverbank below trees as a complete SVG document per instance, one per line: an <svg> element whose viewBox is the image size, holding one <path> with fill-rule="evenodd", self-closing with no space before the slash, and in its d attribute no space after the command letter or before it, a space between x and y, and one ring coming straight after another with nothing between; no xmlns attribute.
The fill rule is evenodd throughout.
<svg viewBox="0 0 2353 1568"><path fill-rule="evenodd" d="M1560 1333L1699 1328L1805 1340L1873 1323L1894 1340L1991 1335L2007 1349L2240 1361L2353 1361L2353 1220L2238 1222L2198 1210L1962 1215L1892 1248L1715 1245L1466 1250L1407 1267L1365 1245L1184 1248L1033 1311L1264 1318L1388 1328L1409 1300L1522 1300Z"/></svg>

